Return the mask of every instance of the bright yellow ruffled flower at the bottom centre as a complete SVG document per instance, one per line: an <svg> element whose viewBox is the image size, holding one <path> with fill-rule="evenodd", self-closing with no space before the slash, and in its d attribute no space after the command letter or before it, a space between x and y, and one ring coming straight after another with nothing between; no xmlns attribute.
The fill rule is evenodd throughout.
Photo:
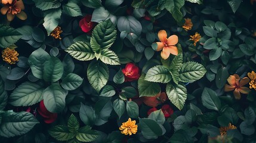
<svg viewBox="0 0 256 143"><path fill-rule="evenodd" d="M121 130L121 133L125 135L132 135L132 133L135 134L138 130L138 125L135 125L135 123L135 120L131 120L131 118L129 118L127 122L122 123L119 130Z"/></svg>

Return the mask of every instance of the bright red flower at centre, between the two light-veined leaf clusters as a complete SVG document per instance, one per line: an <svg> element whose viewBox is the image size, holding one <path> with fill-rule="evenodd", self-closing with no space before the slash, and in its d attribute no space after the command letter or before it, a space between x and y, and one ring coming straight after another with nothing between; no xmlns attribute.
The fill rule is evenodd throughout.
<svg viewBox="0 0 256 143"><path fill-rule="evenodd" d="M122 72L125 74L125 82L131 82L140 78L138 67L133 63L128 63L125 69L122 69Z"/></svg>

